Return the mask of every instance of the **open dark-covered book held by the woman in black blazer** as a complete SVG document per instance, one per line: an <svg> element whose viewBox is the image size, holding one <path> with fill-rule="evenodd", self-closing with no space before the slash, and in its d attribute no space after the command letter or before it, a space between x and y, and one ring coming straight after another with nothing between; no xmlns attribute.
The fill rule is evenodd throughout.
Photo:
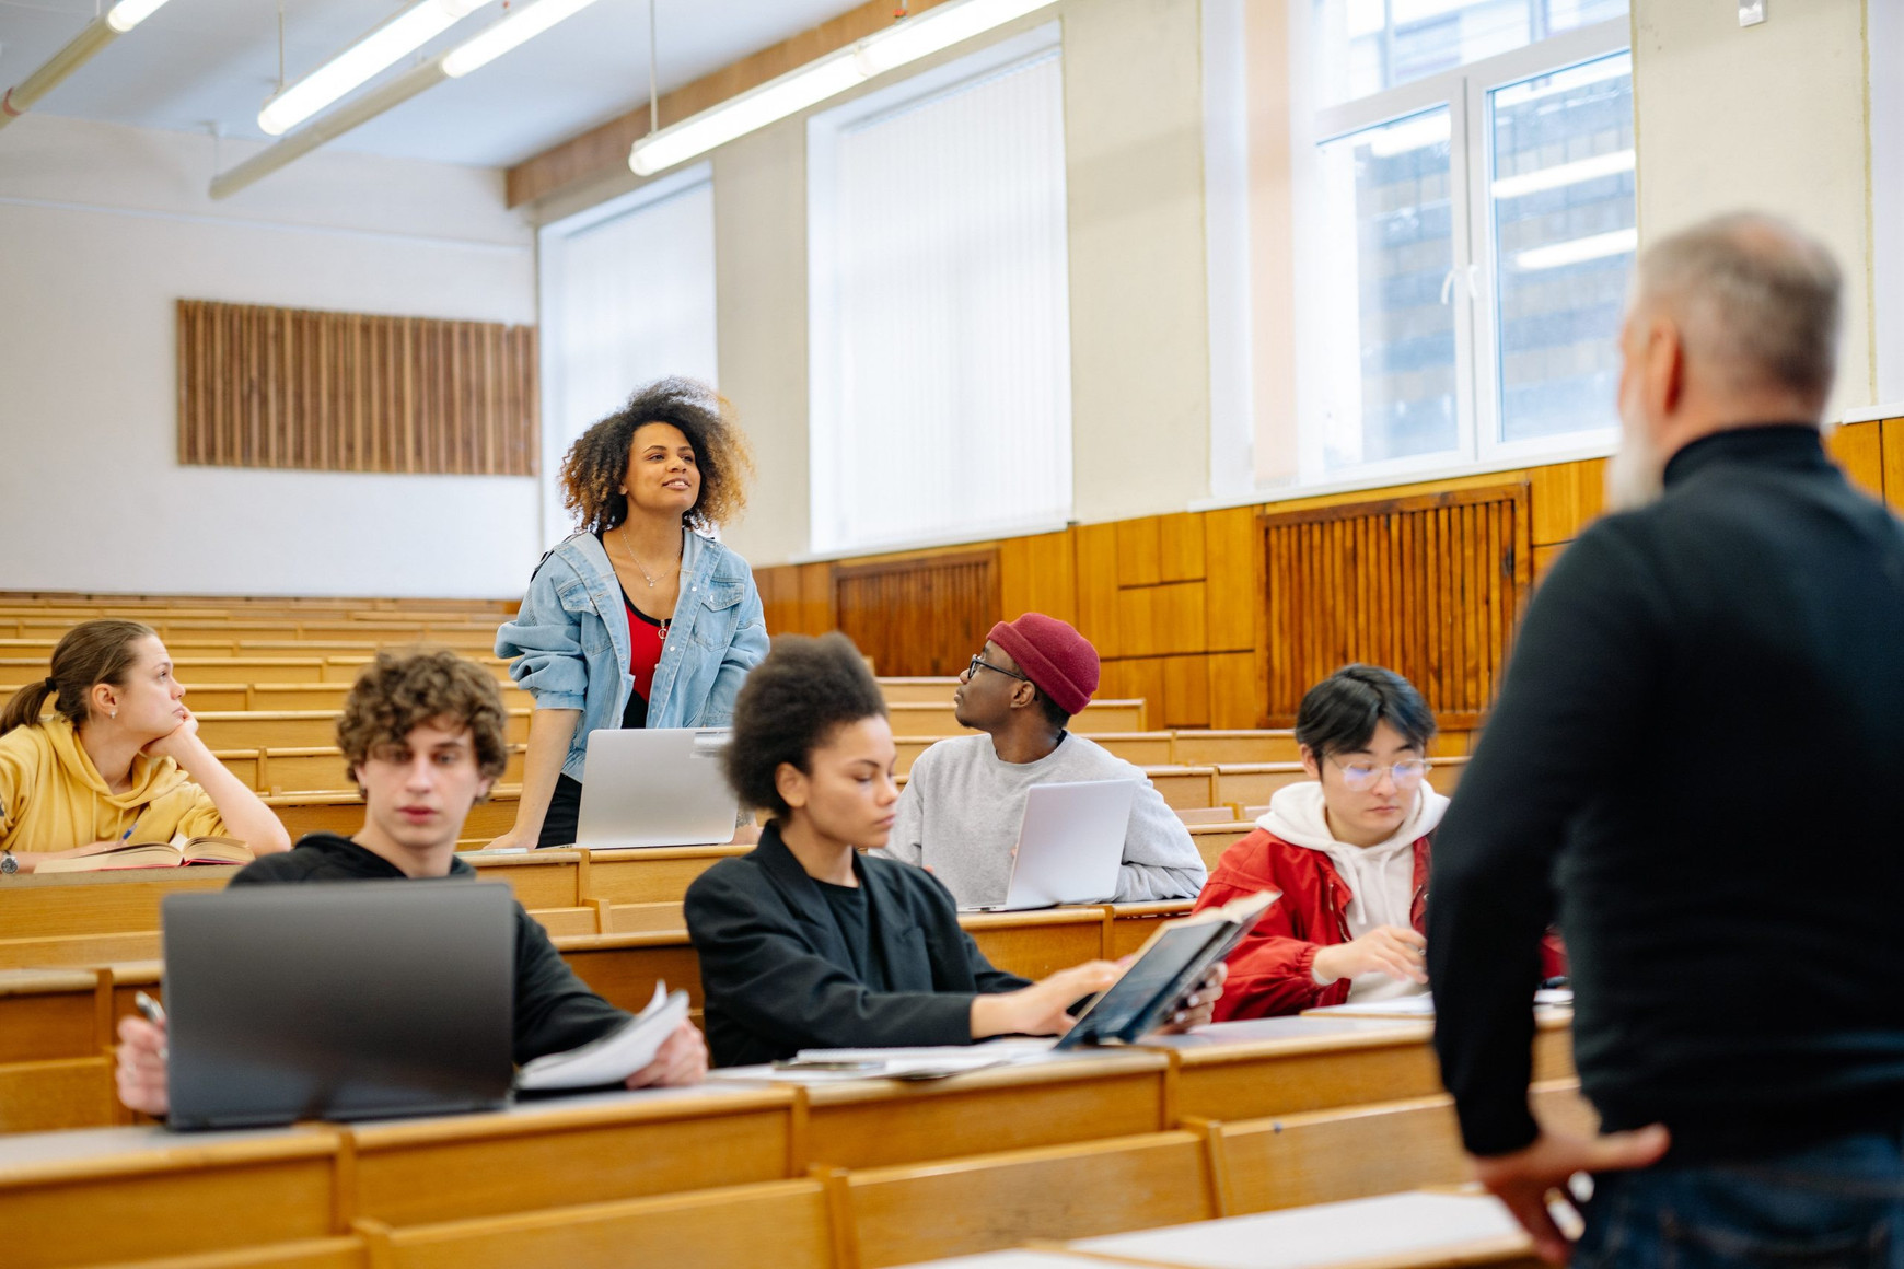
<svg viewBox="0 0 1904 1269"><path fill-rule="evenodd" d="M1131 968L1091 1001L1057 1046L1131 1044L1154 1031L1203 980L1209 966L1236 949L1278 898L1278 890L1257 890L1222 908L1165 921L1137 949Z"/></svg>

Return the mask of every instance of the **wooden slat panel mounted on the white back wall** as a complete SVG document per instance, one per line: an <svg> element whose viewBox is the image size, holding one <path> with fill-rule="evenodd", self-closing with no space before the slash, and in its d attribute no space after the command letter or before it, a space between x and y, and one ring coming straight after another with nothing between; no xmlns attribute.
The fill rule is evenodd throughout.
<svg viewBox="0 0 1904 1269"><path fill-rule="evenodd" d="M533 325L179 301L179 462L535 476Z"/></svg>

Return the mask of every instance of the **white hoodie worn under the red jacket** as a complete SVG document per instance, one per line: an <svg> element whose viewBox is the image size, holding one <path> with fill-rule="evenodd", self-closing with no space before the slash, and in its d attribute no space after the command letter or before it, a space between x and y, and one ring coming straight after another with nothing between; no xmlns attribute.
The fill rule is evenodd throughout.
<svg viewBox="0 0 1904 1269"><path fill-rule="evenodd" d="M1276 833L1293 847L1329 856L1342 885L1350 890L1348 908L1342 909L1348 936L1361 938L1378 925L1409 928L1409 908L1415 902L1415 843L1432 833L1445 812L1447 797L1424 784L1394 837L1373 847L1352 847L1329 833L1321 784L1310 780L1276 790L1270 797L1270 809L1257 820L1257 828ZM1348 999L1350 1003L1386 1001L1420 995L1426 989L1382 972L1356 974L1348 984Z"/></svg>

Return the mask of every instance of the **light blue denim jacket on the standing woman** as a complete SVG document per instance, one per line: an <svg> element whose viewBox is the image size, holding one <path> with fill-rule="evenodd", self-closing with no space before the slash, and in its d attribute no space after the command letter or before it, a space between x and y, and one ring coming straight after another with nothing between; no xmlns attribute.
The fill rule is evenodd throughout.
<svg viewBox="0 0 1904 1269"><path fill-rule="evenodd" d="M767 654L767 622L746 561L714 538L687 531L682 597L655 666L649 727L727 727L746 672ZM581 710L562 772L583 778L588 732L621 727L634 693L628 674L628 609L621 582L592 533L543 556L516 620L495 632L508 675L535 694L537 710Z"/></svg>

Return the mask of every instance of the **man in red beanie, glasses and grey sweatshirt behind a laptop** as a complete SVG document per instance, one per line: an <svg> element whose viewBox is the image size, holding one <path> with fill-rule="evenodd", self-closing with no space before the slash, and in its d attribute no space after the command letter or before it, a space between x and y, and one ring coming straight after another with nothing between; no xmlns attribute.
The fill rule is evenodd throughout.
<svg viewBox="0 0 1904 1269"><path fill-rule="evenodd" d="M1000 904L1034 784L1135 780L1118 875L1120 904L1194 898L1203 858L1139 767L1064 727L1097 691L1097 649L1066 622L1026 613L992 626L952 693L963 727L912 763L882 854L931 868L963 908Z"/></svg>

